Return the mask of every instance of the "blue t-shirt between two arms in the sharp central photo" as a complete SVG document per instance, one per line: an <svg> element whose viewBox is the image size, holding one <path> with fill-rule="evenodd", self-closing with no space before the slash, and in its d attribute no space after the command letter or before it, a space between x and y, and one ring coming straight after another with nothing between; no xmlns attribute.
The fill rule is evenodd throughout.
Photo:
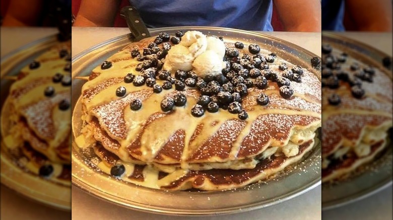
<svg viewBox="0 0 393 220"><path fill-rule="evenodd" d="M149 28L212 26L273 31L272 0L129 0Z"/></svg>

